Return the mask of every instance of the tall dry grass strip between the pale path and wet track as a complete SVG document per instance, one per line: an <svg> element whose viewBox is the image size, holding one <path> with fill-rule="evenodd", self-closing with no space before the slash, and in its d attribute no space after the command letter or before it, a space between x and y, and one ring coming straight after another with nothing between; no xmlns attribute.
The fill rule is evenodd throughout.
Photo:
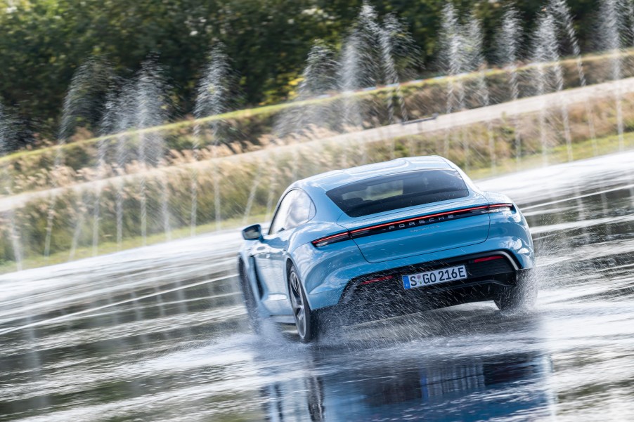
<svg viewBox="0 0 634 422"><path fill-rule="evenodd" d="M631 100L623 103L626 117L624 128L634 131L634 107ZM614 101L606 99L593 103L595 131L605 137L616 133ZM145 186L148 209L147 234L165 230L162 200L167 198L169 228L182 228L191 223L191 185L193 178L198 185L196 223L213 223L216 213L222 220L237 220L245 216L265 216L271 213L280 193L297 178L363 162L377 162L392 157L422 154L445 154L460 166L471 171L486 169L494 162L516 156L515 131L519 128L522 138L522 157L541 154L565 144L562 136L562 116L550 110L545 116L546 145L543 145L539 114L527 114L514 121L505 119L486 124L474 124L453 128L442 133L426 133L408 138L387 139L376 143L334 144L323 141L271 147L253 154L233 155L200 161L196 164L169 166L136 176L113 178L99 192L98 241L114 242L117 239L117 196L122 192L122 237L129 239L141 235L141 185ZM586 108L574 105L569 109L571 138L573 143L588 140ZM494 151L491 154L489 139ZM467 140L465 150L463 140ZM219 187L219 209L216 209L214 184ZM166 190L164 190L164 188ZM164 194L167 192L167 194ZM97 190L68 188L58 194L54 206L54 224L51 253L68 251L73 246L90 246L93 242L93 225ZM13 220L20 237L24 256L41 256L46 239L46 219L49 199L40 198L15 210ZM248 214L248 215L247 215ZM0 253L5 260L15 259L11 242L10 216L0 216Z"/></svg>

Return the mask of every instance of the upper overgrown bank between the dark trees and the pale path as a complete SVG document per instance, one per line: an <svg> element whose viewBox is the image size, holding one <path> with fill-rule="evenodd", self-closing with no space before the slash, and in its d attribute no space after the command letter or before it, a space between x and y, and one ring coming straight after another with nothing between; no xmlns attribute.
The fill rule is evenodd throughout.
<svg viewBox="0 0 634 422"><path fill-rule="evenodd" d="M634 53L626 53L623 60L630 62ZM609 79L612 61L607 55L588 56L583 59L583 69L588 84L600 83ZM564 77L564 88L578 86L578 70L576 60L561 62ZM623 66L623 77L634 74L634 66ZM550 81L552 82L552 74ZM446 98L448 89L454 89L461 84L465 90L465 108L481 106L479 92L480 74L462 75L454 78L428 79L415 81L401 86L399 95L405 105L408 119L430 116L434 113L442 114L448 110ZM486 86L489 87L491 104L503 103L510 100L509 74L504 70L487 70L484 72ZM536 94L536 68L521 67L518 71L519 93L522 96ZM401 98L392 88L380 88L374 91L355 93L351 98L358 110L361 110L360 123L363 128L377 127L389 124L390 108L394 105L395 118L401 117L399 103ZM160 138L158 145L159 156L164 162L172 164L183 159L193 160L193 147L199 145L202 157L212 157L218 154L235 154L248 150L255 150L271 142L280 142L278 138L316 138L330 133L342 133L351 130L349 121L342 116L351 108L351 98L337 95L330 98L309 100L304 103L290 103L261 107L253 110L241 110L217 117L209 117L202 121L181 121L157 128L149 128L140 132L131 131L119 136L105 138L86 137L86 133L78 133L75 141L63 147L48 147L43 150L23 151L8 157L0 158L0 166L8 171L11 184L0 185L0 194L42 190L52 183L51 168L56 154L63 157L67 169L63 172L60 183L80 183L94 178L101 178L112 173L129 173L138 169L136 165L141 157L138 156L139 140L145 136ZM458 105L453 105L453 110ZM392 120L394 121L394 120ZM195 136L195 123L202 130ZM214 126L216 125L216 126ZM221 133L221 139L213 133ZM224 146L221 151L212 151L215 143ZM281 141L285 142L285 141ZM96 170L98 166L98 150L105 150L103 157L108 168Z"/></svg>

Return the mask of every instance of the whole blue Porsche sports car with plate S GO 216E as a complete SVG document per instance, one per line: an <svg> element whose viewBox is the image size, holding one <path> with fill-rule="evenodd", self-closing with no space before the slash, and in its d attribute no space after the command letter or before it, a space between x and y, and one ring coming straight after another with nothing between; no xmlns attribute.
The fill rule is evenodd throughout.
<svg viewBox="0 0 634 422"><path fill-rule="evenodd" d="M411 157L298 180L269 230L242 230L238 269L254 329L353 322L475 301L531 303L533 242L511 199L451 161Z"/></svg>

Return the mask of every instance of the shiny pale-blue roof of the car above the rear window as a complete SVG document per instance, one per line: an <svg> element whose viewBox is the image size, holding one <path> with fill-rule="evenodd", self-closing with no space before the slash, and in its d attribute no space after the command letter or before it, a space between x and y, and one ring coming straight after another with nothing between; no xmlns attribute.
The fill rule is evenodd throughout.
<svg viewBox="0 0 634 422"><path fill-rule="evenodd" d="M443 157L430 155L426 157L406 157L397 158L392 161L384 161L376 164L366 164L365 166L351 167L350 169L328 171L316 176L311 176L302 180L297 180L290 186L300 187L308 190L318 188L324 191L335 189L335 187L354 183L376 176L387 174L403 173L405 171L425 170L425 169L452 169L453 167ZM311 187L313 189L311 189Z"/></svg>

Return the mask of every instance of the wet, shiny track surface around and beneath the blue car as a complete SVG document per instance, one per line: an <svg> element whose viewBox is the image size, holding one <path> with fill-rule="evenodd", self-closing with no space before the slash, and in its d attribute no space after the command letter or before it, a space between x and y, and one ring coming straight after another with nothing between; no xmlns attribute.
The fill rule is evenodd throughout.
<svg viewBox="0 0 634 422"><path fill-rule="evenodd" d="M0 421L634 420L634 153L484 180L522 206L535 310L252 334L236 232L0 276Z"/></svg>

